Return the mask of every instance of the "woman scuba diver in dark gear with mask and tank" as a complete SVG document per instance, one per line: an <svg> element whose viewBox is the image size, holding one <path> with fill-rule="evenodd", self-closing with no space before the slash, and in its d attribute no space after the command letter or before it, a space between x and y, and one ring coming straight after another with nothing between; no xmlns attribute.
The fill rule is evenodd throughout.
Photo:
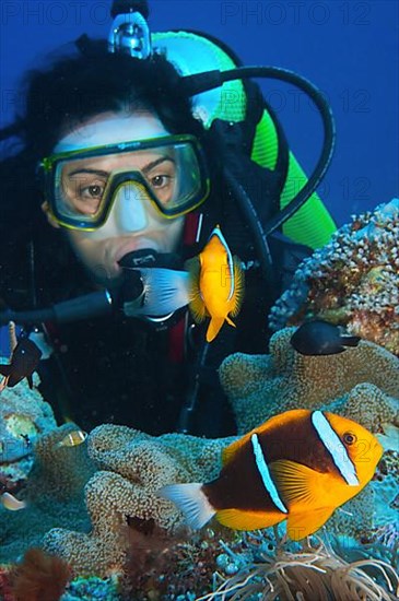
<svg viewBox="0 0 399 601"><path fill-rule="evenodd" d="M1 323L45 341L39 389L59 421L231 435L218 367L267 352L270 307L335 229L315 192L330 110L304 78L243 68L204 34L151 34L144 1L114 1L112 15L108 42L83 35L30 75L24 113L1 132L20 144L0 165ZM253 81L262 76L319 109L309 178ZM208 342L176 291L216 226L245 291L236 327Z"/></svg>

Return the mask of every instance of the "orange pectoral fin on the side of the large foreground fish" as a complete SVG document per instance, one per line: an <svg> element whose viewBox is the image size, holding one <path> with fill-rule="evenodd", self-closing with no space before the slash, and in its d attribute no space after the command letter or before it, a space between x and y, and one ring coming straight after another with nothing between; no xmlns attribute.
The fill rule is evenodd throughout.
<svg viewBox="0 0 399 601"><path fill-rule="evenodd" d="M325 474L289 459L273 461L269 470L280 495L290 509L303 506L304 509L313 510L320 505L324 490L321 481L326 478Z"/></svg>

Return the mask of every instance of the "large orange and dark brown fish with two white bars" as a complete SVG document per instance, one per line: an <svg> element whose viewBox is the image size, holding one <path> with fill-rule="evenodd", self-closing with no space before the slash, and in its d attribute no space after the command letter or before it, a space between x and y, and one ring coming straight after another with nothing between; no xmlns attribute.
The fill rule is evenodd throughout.
<svg viewBox="0 0 399 601"><path fill-rule="evenodd" d="M236 530L286 520L293 540L316 532L373 478L383 455L363 426L324 411L273 416L223 450L219 478L160 491L191 528L213 516Z"/></svg>

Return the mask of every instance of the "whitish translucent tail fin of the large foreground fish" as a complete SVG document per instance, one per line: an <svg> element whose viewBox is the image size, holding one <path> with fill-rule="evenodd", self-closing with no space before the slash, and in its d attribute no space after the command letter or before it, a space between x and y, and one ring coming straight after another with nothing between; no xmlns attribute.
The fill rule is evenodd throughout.
<svg viewBox="0 0 399 601"><path fill-rule="evenodd" d="M203 493L202 484L169 484L160 491L160 495L172 500L184 514L187 525L198 530L202 528L216 512Z"/></svg>

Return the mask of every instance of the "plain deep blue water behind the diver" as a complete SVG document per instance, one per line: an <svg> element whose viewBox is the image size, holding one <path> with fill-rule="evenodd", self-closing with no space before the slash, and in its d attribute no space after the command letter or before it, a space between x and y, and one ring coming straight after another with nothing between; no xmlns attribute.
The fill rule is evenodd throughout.
<svg viewBox="0 0 399 601"><path fill-rule="evenodd" d="M21 104L24 71L84 32L106 37L109 7L110 0L3 0L2 123ZM320 195L339 225L398 195L398 2L150 0L150 11L153 31L207 32L245 64L292 69L320 87L337 122L336 153ZM314 108L275 81L263 90L300 163L312 169L321 143Z"/></svg>

